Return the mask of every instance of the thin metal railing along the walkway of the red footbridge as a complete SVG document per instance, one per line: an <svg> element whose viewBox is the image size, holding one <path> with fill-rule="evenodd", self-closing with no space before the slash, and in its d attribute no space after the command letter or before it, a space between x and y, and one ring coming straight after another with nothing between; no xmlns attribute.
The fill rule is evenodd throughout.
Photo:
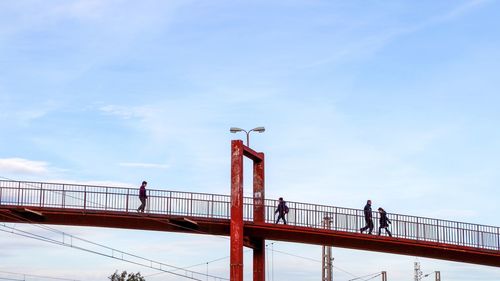
<svg viewBox="0 0 500 281"><path fill-rule="evenodd" d="M203 218L230 218L230 196L148 189L146 212ZM84 209L89 211L136 212L140 205L137 188L0 181L0 207L24 206ZM275 223L276 200L267 199L265 221ZM287 202L287 223L294 226L359 232L365 225L363 210L300 202ZM243 216L253 220L253 198L244 198ZM395 238L500 250L500 228L401 214L387 214ZM373 212L374 234L379 227Z"/></svg>

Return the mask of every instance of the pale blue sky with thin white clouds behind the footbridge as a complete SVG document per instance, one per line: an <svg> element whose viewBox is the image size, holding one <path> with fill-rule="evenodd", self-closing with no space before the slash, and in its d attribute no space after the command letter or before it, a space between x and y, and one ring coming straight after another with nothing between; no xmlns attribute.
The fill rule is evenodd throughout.
<svg viewBox="0 0 500 281"><path fill-rule="evenodd" d="M265 126L250 147L265 153L267 198L500 226L499 12L493 0L0 1L0 177L229 194L230 141L246 138L229 128ZM229 276L228 259L209 262L227 238L53 228ZM268 280L321 279L321 247L268 243ZM0 247L3 278L178 280L5 232ZM493 267L333 256L339 281L413 280L415 261L442 280L500 280Z"/></svg>

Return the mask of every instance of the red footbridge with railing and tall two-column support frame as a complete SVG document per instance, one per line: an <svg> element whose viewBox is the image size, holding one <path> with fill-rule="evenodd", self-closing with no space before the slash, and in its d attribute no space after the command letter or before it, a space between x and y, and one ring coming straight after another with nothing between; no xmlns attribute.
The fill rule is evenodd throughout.
<svg viewBox="0 0 500 281"><path fill-rule="evenodd" d="M359 231L363 210L290 201L288 224L275 224L278 202L264 199L263 153L241 141L232 146L231 195L148 189L146 211L138 213L137 188L2 180L0 221L230 236L234 281L243 280L243 246L254 250L253 280L265 280L267 239L500 267L495 226L389 213L393 236L369 235ZM243 156L254 160L253 197L242 195ZM373 219L376 231L377 212Z"/></svg>

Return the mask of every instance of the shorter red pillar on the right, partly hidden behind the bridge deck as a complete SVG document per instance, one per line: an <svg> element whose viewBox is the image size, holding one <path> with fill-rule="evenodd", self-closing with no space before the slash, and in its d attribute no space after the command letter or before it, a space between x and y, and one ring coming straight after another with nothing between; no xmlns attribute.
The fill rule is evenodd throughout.
<svg viewBox="0 0 500 281"><path fill-rule="evenodd" d="M261 160L254 160L253 164L253 220L264 223L264 153L259 153L259 158ZM253 281L265 281L266 243L264 239L254 239L253 244Z"/></svg>

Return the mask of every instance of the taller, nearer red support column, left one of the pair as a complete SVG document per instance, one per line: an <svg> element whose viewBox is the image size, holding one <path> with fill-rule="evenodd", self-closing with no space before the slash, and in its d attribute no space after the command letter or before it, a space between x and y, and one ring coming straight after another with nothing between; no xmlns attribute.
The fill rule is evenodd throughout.
<svg viewBox="0 0 500 281"><path fill-rule="evenodd" d="M230 280L243 281L243 142L231 141Z"/></svg>

